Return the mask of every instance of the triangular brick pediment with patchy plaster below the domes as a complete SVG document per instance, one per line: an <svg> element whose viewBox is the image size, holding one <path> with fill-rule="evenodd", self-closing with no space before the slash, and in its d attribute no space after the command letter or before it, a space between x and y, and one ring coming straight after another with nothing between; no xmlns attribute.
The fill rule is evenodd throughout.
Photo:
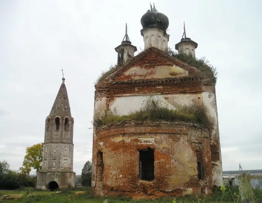
<svg viewBox="0 0 262 203"><path fill-rule="evenodd" d="M148 80L203 75L199 69L151 47L119 67L104 81Z"/></svg>

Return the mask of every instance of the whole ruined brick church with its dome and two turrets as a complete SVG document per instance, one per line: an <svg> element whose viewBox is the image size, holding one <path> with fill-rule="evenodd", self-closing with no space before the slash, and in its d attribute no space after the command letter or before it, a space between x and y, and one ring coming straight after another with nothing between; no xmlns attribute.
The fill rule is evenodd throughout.
<svg viewBox="0 0 262 203"><path fill-rule="evenodd" d="M145 50L134 56L137 48L126 32L115 48L120 67L95 85L94 115L106 109L126 115L148 96L170 108L194 100L206 106L211 131L166 120L125 120L94 129L92 186L101 196L210 194L213 185L222 185L215 78L166 53L169 19L155 6L141 25ZM175 49L195 57L198 44L185 34Z"/></svg>

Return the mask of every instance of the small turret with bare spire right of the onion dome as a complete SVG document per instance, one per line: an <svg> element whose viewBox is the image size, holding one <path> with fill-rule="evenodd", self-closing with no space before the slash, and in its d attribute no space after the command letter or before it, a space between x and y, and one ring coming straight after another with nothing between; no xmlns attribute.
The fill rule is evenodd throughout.
<svg viewBox="0 0 262 203"><path fill-rule="evenodd" d="M186 28L185 28L185 22L184 22L184 32L183 32L183 35L182 35L182 39L179 43L177 43L175 45L175 49L178 52L182 52L182 53L185 53L185 54L192 54L192 56L195 57L195 49L197 48L197 45L198 44L196 42L194 42L190 38L186 37Z"/></svg>

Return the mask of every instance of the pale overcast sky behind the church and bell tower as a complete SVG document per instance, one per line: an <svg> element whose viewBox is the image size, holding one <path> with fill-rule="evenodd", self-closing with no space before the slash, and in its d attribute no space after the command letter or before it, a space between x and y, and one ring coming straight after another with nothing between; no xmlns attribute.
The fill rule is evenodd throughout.
<svg viewBox="0 0 262 203"><path fill-rule="evenodd" d="M185 21L196 56L217 67L223 170L262 169L262 1L154 3L169 18L168 46L174 50ZM18 170L26 147L43 142L63 69L75 121L73 170L81 173L92 158L96 78L117 63L126 22L143 49L140 18L149 8L144 0L0 1L0 161Z"/></svg>

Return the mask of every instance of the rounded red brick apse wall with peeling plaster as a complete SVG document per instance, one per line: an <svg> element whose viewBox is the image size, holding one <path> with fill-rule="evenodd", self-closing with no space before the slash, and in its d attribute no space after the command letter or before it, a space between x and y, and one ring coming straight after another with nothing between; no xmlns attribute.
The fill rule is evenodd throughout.
<svg viewBox="0 0 262 203"><path fill-rule="evenodd" d="M208 131L196 124L184 122L126 121L105 126L96 132L95 191L100 195L132 197L181 196L187 193L211 192L212 167ZM138 150L154 149L153 181L139 179ZM204 179L198 179L197 151L201 151ZM202 191L203 192L203 191Z"/></svg>

